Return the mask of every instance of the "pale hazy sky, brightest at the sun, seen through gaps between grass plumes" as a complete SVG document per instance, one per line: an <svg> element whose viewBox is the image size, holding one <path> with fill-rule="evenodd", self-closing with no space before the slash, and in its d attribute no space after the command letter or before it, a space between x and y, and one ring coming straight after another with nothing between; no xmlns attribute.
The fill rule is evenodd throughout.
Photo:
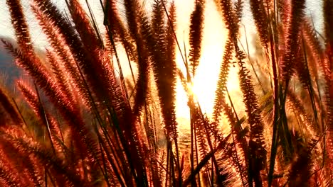
<svg viewBox="0 0 333 187"><path fill-rule="evenodd" d="M83 4L85 4L84 0ZM191 11L194 9L195 0L175 0L177 10L177 38L181 43L182 50L186 43L187 52L189 50L188 45L188 34L189 34L189 16ZM218 79L218 72L221 64L222 52L224 42L226 40L226 30L223 27L221 15L216 10L216 6L213 3L214 0L206 0L206 11L205 11L205 25L204 25L204 37L203 37L203 49L201 55L201 64L199 64L198 72L194 78L194 92L199 98L203 111L211 113L214 99L214 92L216 89L216 81ZM22 0L23 8L26 11L26 18L28 25L31 28L31 35L33 38L34 45L43 47L46 44L45 37L41 32L38 23L35 21L31 11L29 10L29 0ZM65 7L65 0L53 0L59 7ZM102 26L102 11L100 9L100 1L89 0L90 6L93 7L97 20L100 21ZM93 3L95 2L95 4ZM152 0L146 0L147 6L152 5ZM243 23L246 26L248 37L255 33L253 26L253 18L251 18L250 8L245 1ZM317 30L322 29L322 1L311 0L307 1L307 14L311 15L314 19ZM0 36L13 38L13 29L11 27L9 11L6 6L6 0L0 0ZM244 42L244 40L242 40ZM249 39L249 42L251 40ZM245 46L245 45L244 45ZM252 50L253 52L253 50ZM179 67L184 67L181 61L181 56L177 55ZM126 64L127 61L125 60ZM126 68L125 68L126 69ZM128 68L127 68L128 69ZM208 73L207 73L208 72ZM236 72L236 71L235 71ZM228 82L228 89L237 92L238 76L231 76ZM188 116L189 111L182 108L186 108L187 99L182 91L181 86L177 87L177 114L181 117Z"/></svg>

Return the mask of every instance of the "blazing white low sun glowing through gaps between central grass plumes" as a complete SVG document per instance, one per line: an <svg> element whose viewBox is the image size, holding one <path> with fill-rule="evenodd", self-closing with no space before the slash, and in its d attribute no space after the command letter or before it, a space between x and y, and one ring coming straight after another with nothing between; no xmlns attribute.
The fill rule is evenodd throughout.
<svg viewBox="0 0 333 187"><path fill-rule="evenodd" d="M214 47L205 50L201 56L201 62L197 69L197 73L192 79L192 84L188 84L188 89L194 96L201 107L201 111L208 118L212 117L213 106L216 99L216 88L218 75L220 73L220 66L222 63L222 52L217 52ZM231 95L233 105L243 109L242 96L239 87L238 80L238 69L231 65L231 69L227 81L227 89ZM227 103L229 99L227 98ZM190 128L190 113L188 106L189 98L184 91L184 87L181 82L178 81L176 84L176 117L179 123L179 128L189 130ZM237 109L236 109L237 110Z"/></svg>

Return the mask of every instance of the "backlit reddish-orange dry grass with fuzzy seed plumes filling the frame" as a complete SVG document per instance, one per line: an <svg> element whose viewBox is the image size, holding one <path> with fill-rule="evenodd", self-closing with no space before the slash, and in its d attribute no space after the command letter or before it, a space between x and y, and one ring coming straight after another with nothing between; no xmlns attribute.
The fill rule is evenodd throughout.
<svg viewBox="0 0 333 187"><path fill-rule="evenodd" d="M16 85L29 108L0 89L1 186L333 186L332 0L324 0L322 35L304 0L250 0L256 57L239 42L243 1L216 1L228 36L212 118L188 88L201 58L204 0L194 1L189 20L189 59L176 38L174 2L154 0L147 13L141 1L124 0L122 18L116 1L100 1L102 35L78 0L66 0L67 16L50 0L33 0L46 60L36 55L20 1L6 2L18 47L3 42L31 80ZM232 64L244 116L226 86ZM183 135L177 79L191 116Z"/></svg>

